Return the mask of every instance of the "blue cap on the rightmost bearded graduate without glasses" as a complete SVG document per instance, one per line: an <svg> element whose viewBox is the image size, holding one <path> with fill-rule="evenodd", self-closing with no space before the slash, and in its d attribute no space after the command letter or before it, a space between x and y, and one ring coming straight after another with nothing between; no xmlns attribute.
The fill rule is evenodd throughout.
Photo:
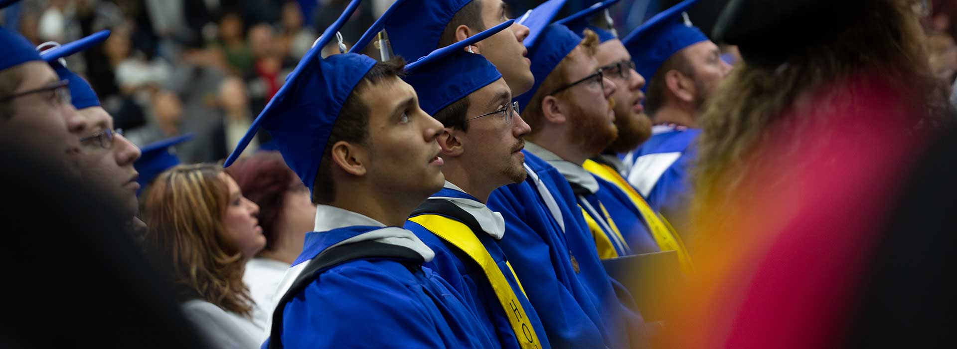
<svg viewBox="0 0 957 349"><path fill-rule="evenodd" d="M621 40L632 54L635 71L651 80L665 60L682 49L707 41L701 30L687 22L684 11L699 0L685 0L668 10L661 11ZM647 89L646 84L644 89Z"/></svg>

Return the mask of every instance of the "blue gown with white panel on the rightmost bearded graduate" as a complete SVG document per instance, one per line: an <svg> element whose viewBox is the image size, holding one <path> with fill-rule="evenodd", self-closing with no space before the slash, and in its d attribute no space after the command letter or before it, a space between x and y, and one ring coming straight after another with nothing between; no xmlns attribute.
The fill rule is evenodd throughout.
<svg viewBox="0 0 957 349"><path fill-rule="evenodd" d="M691 196L691 166L701 129L655 126L651 139L625 155L628 182L656 211L679 212Z"/></svg>

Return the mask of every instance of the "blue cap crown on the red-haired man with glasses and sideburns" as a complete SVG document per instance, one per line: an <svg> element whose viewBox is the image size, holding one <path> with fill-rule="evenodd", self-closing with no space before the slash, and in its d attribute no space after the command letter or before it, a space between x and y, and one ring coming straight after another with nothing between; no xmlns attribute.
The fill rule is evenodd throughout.
<svg viewBox="0 0 957 349"><path fill-rule="evenodd" d="M532 76L535 76L535 84L532 85L531 90L514 98L519 102L521 110L525 110L528 101L535 95L539 87L542 87L545 77L548 77L551 71L558 66L558 63L562 62L562 59L565 59L582 42L581 36L571 32L568 27L561 24L552 24L545 27L545 31L540 36L542 37L542 44L528 48L528 59L532 61L531 70Z"/></svg>

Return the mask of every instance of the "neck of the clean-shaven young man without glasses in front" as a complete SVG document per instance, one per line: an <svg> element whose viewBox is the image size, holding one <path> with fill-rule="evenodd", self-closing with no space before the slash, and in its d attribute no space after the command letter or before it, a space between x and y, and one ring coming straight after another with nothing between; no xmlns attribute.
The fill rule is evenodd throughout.
<svg viewBox="0 0 957 349"><path fill-rule="evenodd" d="M415 207L427 198L412 200L409 193L378 190L371 185L338 185L330 206L350 210L389 227L402 227Z"/></svg>

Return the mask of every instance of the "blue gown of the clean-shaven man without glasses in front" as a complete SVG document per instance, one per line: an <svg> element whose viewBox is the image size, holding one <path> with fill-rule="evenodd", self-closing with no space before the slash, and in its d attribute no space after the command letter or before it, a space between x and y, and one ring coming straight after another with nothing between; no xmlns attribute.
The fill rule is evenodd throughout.
<svg viewBox="0 0 957 349"><path fill-rule="evenodd" d="M379 229L309 232L293 265ZM407 268L392 259L352 260L319 273L286 304L282 343L285 348L495 347L466 303L429 268Z"/></svg>

